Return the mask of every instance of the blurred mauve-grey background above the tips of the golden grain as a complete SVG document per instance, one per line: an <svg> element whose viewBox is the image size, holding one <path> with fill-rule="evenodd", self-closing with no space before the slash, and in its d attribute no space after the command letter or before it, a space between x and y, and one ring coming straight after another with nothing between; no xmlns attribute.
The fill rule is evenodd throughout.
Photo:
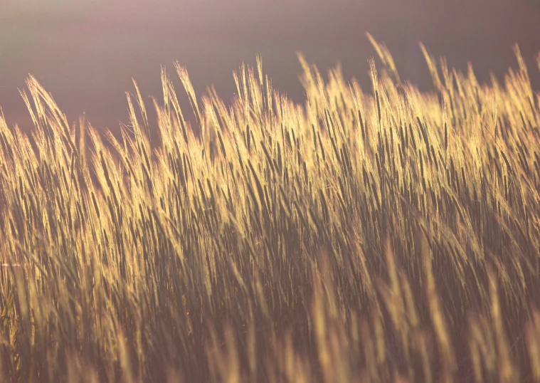
<svg viewBox="0 0 540 383"><path fill-rule="evenodd" d="M471 61L481 82L517 66L519 43L540 89L538 0L0 0L0 106L10 125L30 126L17 88L31 73L70 122L86 112L92 125L117 131L132 77L145 100L161 100L160 65L174 73L178 59L199 96L214 85L228 101L233 70L258 54L274 87L300 102L297 51L322 73L340 62L346 79L369 87L376 53L366 31L420 88L431 85L422 41L449 66Z"/></svg>

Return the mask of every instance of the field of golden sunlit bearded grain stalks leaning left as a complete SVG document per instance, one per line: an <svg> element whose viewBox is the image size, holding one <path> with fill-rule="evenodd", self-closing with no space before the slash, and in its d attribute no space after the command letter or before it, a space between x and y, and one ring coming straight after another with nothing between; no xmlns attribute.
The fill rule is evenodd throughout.
<svg viewBox="0 0 540 383"><path fill-rule="evenodd" d="M114 136L28 78L31 135L0 117L0 381L540 382L519 49L482 85L422 46L420 93L371 41L369 91L300 56L305 105L260 60L231 106L176 63L192 110L163 70L159 135L135 83Z"/></svg>

